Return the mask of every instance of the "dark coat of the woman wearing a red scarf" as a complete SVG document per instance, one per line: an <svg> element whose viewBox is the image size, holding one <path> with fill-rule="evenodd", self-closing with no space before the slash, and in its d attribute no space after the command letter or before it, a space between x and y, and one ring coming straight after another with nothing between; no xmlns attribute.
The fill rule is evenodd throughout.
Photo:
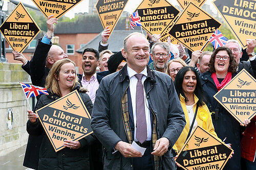
<svg viewBox="0 0 256 170"><path fill-rule="evenodd" d="M232 78L236 74L232 74ZM218 89L211 78L211 72L207 71L200 75L200 80L203 86L204 95L207 99L207 106L212 112L212 123L214 124L215 132L220 139L225 139L225 143L231 143L231 148L234 150L233 157L227 161L224 169L240 170L241 158L241 126L218 101L214 99L214 95Z"/></svg>

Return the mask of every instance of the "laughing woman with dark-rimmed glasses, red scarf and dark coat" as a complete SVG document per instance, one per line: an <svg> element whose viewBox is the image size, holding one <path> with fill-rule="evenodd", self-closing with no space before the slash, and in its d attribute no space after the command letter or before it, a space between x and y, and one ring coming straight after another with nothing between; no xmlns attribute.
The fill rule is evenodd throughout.
<svg viewBox="0 0 256 170"><path fill-rule="evenodd" d="M211 55L209 70L200 75L200 80L211 112L215 132L234 150L233 158L228 160L224 169L241 169L241 126L239 122L214 99L214 95L236 76L237 63L231 50L219 47Z"/></svg>

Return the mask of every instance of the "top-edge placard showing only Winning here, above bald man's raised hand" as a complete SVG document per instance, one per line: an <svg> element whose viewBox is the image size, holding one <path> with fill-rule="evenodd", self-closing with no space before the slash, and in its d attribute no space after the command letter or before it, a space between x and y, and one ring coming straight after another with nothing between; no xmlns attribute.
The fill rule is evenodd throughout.
<svg viewBox="0 0 256 170"><path fill-rule="evenodd" d="M45 15L45 17L53 15L54 18L59 18L83 0L32 0L32 1L40 9L40 11Z"/></svg>

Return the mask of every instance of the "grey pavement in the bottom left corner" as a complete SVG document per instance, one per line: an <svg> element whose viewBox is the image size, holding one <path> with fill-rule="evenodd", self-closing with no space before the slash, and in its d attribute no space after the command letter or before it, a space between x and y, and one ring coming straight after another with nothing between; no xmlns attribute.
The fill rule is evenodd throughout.
<svg viewBox="0 0 256 170"><path fill-rule="evenodd" d="M0 156L0 169L1 170L33 170L23 166L23 159L26 151L26 146L10 152L5 156Z"/></svg>

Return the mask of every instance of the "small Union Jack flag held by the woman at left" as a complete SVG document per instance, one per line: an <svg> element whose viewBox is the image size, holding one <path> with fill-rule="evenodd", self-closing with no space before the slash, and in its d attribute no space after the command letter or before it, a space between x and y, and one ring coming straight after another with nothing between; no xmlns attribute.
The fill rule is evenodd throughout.
<svg viewBox="0 0 256 170"><path fill-rule="evenodd" d="M31 98L32 96L36 97L39 94L48 95L47 89L44 87L33 86L33 85L22 83L22 82L20 82L20 85L22 86L22 89L27 99Z"/></svg>

